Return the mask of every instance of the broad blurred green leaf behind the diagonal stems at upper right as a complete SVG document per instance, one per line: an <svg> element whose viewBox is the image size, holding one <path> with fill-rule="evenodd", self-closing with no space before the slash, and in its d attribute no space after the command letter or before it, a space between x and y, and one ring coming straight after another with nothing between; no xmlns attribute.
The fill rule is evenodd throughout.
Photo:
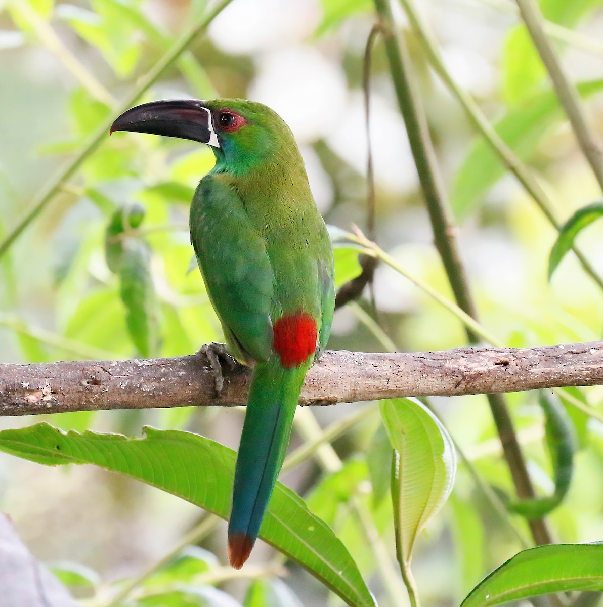
<svg viewBox="0 0 603 607"><path fill-rule="evenodd" d="M581 97L590 97L603 90L603 80L580 83L577 89ZM561 120L564 114L557 97L548 91L509 110L494 127L509 148L525 161L532 157L545 132ZM489 144L477 137L452 184L451 201L457 217L467 217L505 172L506 167Z"/></svg>

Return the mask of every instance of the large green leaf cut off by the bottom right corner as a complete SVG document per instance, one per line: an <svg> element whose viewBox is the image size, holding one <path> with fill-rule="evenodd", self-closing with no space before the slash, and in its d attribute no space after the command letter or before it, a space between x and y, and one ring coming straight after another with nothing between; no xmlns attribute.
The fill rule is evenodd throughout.
<svg viewBox="0 0 603 607"><path fill-rule="evenodd" d="M602 563L602 543L530 548L475 586L461 607L488 607L550 592L603 590Z"/></svg>

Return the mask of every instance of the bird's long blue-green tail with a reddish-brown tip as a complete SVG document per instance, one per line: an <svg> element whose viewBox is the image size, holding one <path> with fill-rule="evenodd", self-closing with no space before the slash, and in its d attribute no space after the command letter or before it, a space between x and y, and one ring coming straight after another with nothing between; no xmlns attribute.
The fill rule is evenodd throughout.
<svg viewBox="0 0 603 607"><path fill-rule="evenodd" d="M240 569L256 541L287 452L308 365L283 368L278 357L256 364L234 472L228 522L230 564Z"/></svg>

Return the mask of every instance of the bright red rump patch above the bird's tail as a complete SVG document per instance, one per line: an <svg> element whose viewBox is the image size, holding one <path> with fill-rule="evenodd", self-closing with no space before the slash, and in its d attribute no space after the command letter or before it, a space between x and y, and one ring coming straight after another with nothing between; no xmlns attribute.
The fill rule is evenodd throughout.
<svg viewBox="0 0 603 607"><path fill-rule="evenodd" d="M273 327L273 349L281 357L281 365L297 367L316 350L316 322L305 312L285 314Z"/></svg>

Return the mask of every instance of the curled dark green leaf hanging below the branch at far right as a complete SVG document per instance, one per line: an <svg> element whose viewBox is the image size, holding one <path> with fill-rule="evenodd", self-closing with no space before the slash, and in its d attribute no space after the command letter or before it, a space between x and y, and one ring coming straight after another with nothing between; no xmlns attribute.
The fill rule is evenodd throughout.
<svg viewBox="0 0 603 607"><path fill-rule="evenodd" d="M518 500L508 504L511 512L526 518L541 518L564 500L570 489L574 469L574 441L571 436L571 419L556 395L541 390L538 402L545 415L547 446L553 463L555 490L548 497Z"/></svg>

